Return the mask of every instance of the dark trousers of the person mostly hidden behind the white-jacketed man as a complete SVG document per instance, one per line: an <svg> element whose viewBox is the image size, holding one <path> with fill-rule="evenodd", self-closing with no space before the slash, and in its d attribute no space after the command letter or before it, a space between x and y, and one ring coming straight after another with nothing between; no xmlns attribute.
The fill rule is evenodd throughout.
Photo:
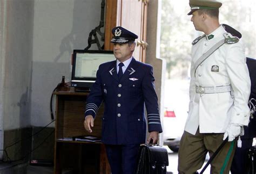
<svg viewBox="0 0 256 174"><path fill-rule="evenodd" d="M252 146L253 139L244 139L242 140L242 147L235 149L235 154L233 158L233 162L231 165L231 173L232 174L244 174L245 173L245 161L247 151Z"/></svg>

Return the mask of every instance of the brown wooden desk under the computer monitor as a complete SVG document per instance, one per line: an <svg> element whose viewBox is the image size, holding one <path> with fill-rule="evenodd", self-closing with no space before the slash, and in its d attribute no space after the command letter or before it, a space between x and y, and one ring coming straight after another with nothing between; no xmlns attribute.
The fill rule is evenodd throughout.
<svg viewBox="0 0 256 174"><path fill-rule="evenodd" d="M73 173L110 174L105 147L101 142L78 142L58 140L63 137L90 135L101 137L104 106L100 106L96 115L92 133L84 129L84 112L87 92L54 92L56 95L55 154L54 173L64 170Z"/></svg>

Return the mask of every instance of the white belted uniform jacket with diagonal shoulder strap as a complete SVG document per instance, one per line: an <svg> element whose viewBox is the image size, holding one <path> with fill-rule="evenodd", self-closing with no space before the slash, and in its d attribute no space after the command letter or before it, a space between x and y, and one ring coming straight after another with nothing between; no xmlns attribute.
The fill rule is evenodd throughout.
<svg viewBox="0 0 256 174"><path fill-rule="evenodd" d="M225 39L223 26L192 46L190 105L185 131L225 133L228 124L248 125L250 109L247 102L251 82L241 41L225 43L213 52L198 68L194 63L218 41ZM196 71L195 71L196 69ZM216 87L231 85L231 92L196 93L196 86Z"/></svg>

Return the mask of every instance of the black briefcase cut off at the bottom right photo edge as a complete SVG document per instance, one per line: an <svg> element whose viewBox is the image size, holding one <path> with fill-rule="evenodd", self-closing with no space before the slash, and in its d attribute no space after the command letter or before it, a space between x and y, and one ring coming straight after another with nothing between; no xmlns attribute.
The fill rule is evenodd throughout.
<svg viewBox="0 0 256 174"><path fill-rule="evenodd" d="M255 174L256 172L256 146L252 146L246 155L245 162L246 174Z"/></svg>

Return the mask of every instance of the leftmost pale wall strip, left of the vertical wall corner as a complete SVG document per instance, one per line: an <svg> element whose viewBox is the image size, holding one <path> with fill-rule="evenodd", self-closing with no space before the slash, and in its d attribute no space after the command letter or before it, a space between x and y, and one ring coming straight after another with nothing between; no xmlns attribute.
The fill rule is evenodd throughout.
<svg viewBox="0 0 256 174"><path fill-rule="evenodd" d="M6 0L1 3L2 124L4 130L8 130L30 125L33 2Z"/></svg>

